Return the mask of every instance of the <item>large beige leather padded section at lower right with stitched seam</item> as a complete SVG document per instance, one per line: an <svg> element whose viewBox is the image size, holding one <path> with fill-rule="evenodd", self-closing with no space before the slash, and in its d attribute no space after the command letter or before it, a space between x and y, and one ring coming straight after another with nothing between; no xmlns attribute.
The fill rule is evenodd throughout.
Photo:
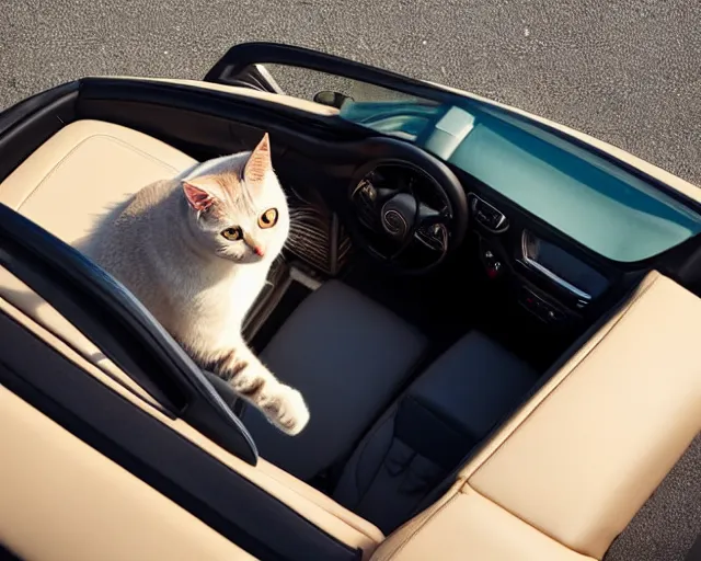
<svg viewBox="0 0 701 561"><path fill-rule="evenodd" d="M601 559L701 431L701 299L653 272L374 559Z"/></svg>

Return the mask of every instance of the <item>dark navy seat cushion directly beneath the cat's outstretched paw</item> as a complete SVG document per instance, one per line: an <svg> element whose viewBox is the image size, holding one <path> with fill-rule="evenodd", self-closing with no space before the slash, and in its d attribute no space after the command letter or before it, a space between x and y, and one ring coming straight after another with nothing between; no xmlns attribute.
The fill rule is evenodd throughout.
<svg viewBox="0 0 701 561"><path fill-rule="evenodd" d="M304 396L309 424L290 437L253 408L243 413L244 424L264 458L309 480L352 451L425 348L415 328L331 280L295 310L262 353L271 370Z"/></svg>

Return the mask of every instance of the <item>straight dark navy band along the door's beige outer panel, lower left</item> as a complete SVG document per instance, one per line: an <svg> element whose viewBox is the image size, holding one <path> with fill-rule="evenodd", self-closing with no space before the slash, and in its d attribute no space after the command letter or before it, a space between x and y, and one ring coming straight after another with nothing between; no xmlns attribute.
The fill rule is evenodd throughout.
<svg viewBox="0 0 701 561"><path fill-rule="evenodd" d="M290 561L363 556L7 316L0 332L1 383L249 553Z"/></svg>

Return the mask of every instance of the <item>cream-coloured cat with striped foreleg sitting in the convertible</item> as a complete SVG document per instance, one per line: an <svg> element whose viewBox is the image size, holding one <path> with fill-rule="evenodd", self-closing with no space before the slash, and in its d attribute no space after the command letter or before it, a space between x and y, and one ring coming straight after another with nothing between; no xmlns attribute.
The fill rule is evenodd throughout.
<svg viewBox="0 0 701 561"><path fill-rule="evenodd" d="M265 133L250 152L141 188L101 217L80 250L126 286L200 367L296 435L309 421L301 393L278 381L241 334L289 222Z"/></svg>

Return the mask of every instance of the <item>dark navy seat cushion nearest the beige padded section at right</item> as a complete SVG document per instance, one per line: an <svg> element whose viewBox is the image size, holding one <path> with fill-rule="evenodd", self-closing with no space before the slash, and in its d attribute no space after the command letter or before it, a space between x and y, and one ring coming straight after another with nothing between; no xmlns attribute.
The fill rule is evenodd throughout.
<svg viewBox="0 0 701 561"><path fill-rule="evenodd" d="M392 531L537 380L530 366L491 339L467 334L363 439L334 499Z"/></svg>

